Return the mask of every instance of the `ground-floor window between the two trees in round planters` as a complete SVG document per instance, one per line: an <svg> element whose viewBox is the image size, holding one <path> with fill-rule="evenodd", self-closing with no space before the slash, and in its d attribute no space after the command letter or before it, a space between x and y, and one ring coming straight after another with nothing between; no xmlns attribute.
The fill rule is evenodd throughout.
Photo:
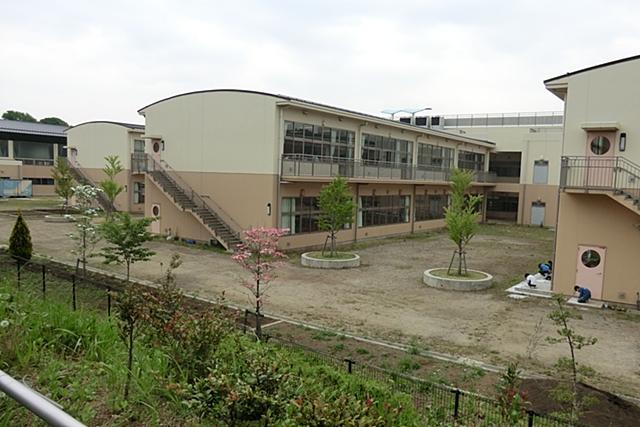
<svg viewBox="0 0 640 427"><path fill-rule="evenodd" d="M358 212L358 226L400 224L409 222L409 196L362 196Z"/></svg>

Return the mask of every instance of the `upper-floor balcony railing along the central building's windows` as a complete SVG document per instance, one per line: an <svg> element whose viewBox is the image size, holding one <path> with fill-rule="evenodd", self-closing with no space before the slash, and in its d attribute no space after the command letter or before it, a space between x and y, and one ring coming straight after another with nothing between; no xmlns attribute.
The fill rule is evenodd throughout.
<svg viewBox="0 0 640 427"><path fill-rule="evenodd" d="M284 155L281 160L283 177L331 178L341 176L353 179L391 181L448 181L451 169L415 166L402 163L374 162L337 157ZM493 172L474 171L474 182L493 183Z"/></svg>

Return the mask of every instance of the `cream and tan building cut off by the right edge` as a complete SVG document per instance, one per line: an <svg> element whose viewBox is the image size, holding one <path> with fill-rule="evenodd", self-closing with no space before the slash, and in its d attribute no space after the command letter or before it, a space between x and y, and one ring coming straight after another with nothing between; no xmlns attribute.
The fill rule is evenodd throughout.
<svg viewBox="0 0 640 427"><path fill-rule="evenodd" d="M640 56L550 78L564 101L553 290L636 304L640 282Z"/></svg>

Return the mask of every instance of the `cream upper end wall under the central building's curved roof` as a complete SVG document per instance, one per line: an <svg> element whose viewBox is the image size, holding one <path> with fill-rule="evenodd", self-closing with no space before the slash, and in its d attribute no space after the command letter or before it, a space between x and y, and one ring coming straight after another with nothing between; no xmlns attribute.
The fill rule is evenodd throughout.
<svg viewBox="0 0 640 427"><path fill-rule="evenodd" d="M203 92L153 104L141 113L146 135L164 140L162 158L177 171L274 175L279 165L277 100Z"/></svg>

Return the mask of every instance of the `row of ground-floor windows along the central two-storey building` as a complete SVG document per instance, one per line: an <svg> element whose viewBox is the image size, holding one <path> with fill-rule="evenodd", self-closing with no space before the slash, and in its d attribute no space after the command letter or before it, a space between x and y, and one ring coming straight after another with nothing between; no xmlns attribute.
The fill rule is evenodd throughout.
<svg viewBox="0 0 640 427"><path fill-rule="evenodd" d="M416 195L416 221L444 218L449 203L446 194ZM358 227L402 224L410 221L411 196L360 196L357 212ZM320 207L316 197L284 197L281 206L281 227L290 234L319 231ZM345 228L350 228L350 225Z"/></svg>

